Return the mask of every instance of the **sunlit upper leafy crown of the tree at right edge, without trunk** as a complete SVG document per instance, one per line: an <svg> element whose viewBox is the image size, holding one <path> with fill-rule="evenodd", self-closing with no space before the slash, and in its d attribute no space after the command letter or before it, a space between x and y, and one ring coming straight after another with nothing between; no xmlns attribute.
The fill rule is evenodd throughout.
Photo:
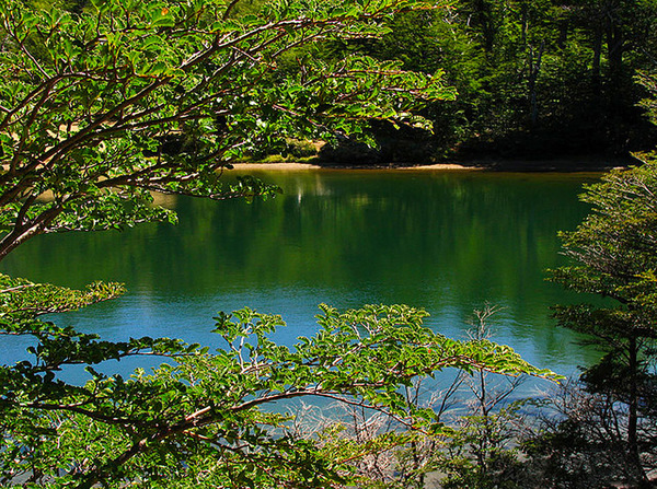
<svg viewBox="0 0 657 489"><path fill-rule="evenodd" d="M591 214L576 231L562 233L564 253L576 265L553 271L553 280L569 289L621 304L613 312L595 313L604 315L611 329L631 327L646 337L654 335L650 323L657 299L656 187L652 161L631 171L613 171L601 183L588 186L581 199L592 206ZM595 323L590 319L581 322ZM613 327L614 322L624 326Z"/></svg>

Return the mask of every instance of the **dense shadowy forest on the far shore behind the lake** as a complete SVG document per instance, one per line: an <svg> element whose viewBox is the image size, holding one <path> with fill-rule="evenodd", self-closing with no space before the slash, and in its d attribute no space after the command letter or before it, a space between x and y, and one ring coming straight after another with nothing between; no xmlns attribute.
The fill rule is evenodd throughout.
<svg viewBox="0 0 657 489"><path fill-rule="evenodd" d="M379 151L343 143L326 161L517 159L532 167L568 156L624 158L657 141L635 80L657 60L653 1L458 0L400 15L389 27L381 40L332 48L443 71L458 96L425 109L434 135L373 121Z"/></svg>

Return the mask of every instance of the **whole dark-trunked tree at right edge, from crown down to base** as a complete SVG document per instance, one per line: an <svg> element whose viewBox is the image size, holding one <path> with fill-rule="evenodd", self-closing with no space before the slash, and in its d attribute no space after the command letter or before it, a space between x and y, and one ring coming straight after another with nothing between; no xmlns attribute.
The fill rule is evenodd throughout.
<svg viewBox="0 0 657 489"><path fill-rule="evenodd" d="M576 231L563 233L565 253L575 265L553 271L553 280L565 287L608 299L601 304L560 306L556 316L563 326L586 333L587 341L603 352L586 370L584 381L619 410L616 422L623 420L621 439L625 465L634 470L627 476L633 484L648 484L644 462L654 450L648 427L656 381L656 188L654 161L614 171L589 186L583 199L592 205L592 213Z"/></svg>

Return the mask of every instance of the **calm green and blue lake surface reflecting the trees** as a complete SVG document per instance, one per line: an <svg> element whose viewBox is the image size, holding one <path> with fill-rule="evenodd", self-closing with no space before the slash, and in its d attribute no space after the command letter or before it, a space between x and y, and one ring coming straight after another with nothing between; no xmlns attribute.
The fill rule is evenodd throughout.
<svg viewBox="0 0 657 489"><path fill-rule="evenodd" d="M217 311L278 313L288 344L315 329L319 303L407 303L427 325L464 338L473 310L503 310L494 339L539 366L573 374L596 353L554 325L550 305L576 296L545 281L558 230L587 212L577 195L593 174L427 171L253 172L274 200L166 198L180 224L123 233L39 236L0 264L10 275L83 287L125 282L123 298L56 317L107 339L181 337L217 346ZM25 356L3 338L0 361ZM122 362L122 371L135 366Z"/></svg>

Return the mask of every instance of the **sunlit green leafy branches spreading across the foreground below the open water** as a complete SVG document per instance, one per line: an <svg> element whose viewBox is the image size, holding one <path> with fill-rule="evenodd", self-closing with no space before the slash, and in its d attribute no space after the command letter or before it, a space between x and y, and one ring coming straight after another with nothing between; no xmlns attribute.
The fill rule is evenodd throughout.
<svg viewBox="0 0 657 489"><path fill-rule="evenodd" d="M437 434L445 428L435 414L399 392L418 375L453 366L554 377L508 347L434 334L422 327L425 316L407 306L341 313L323 305L320 330L290 349L268 339L284 325L279 316L245 308L216 317L226 347L212 354L173 340L106 344L51 325L33 328L35 360L2 369L4 480L25 474L35 482L55 478L77 487L163 478L192 478L196 487L326 487L347 480L353 457L387 449L391 435L327 451L312 440L277 435L289 419L267 406L328 398L384 411L397 429ZM129 380L91 366L143 353L171 360ZM90 365L93 379L84 386L55 375L73 363Z"/></svg>

